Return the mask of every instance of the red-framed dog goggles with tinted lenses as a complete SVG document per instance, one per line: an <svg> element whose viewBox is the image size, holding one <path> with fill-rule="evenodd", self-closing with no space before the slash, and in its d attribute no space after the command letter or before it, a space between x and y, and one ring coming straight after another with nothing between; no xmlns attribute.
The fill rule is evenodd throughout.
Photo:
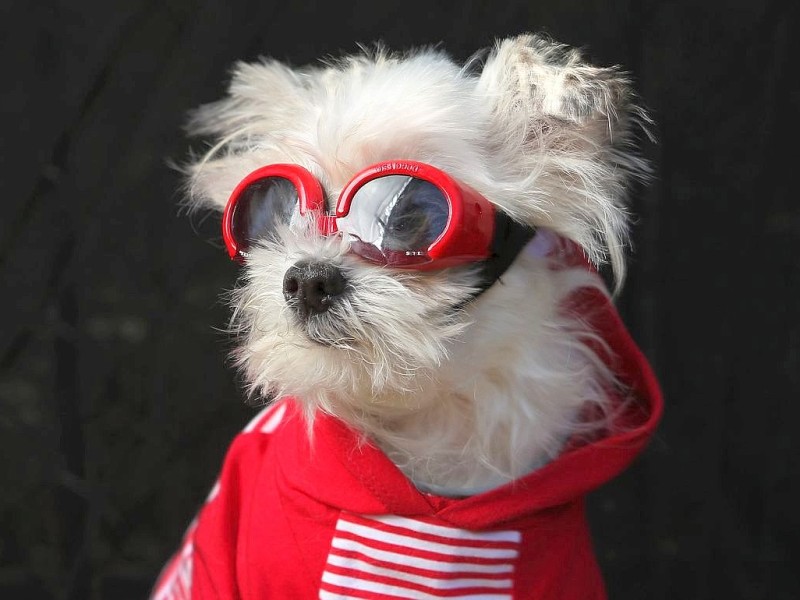
<svg viewBox="0 0 800 600"><path fill-rule="evenodd" d="M341 233L354 254L420 270L481 261L492 254L496 211L481 194L430 165L389 161L344 187L334 215L319 181L299 165L256 169L233 190L222 218L231 258L243 261L258 240L277 237L297 216L323 235Z"/></svg>

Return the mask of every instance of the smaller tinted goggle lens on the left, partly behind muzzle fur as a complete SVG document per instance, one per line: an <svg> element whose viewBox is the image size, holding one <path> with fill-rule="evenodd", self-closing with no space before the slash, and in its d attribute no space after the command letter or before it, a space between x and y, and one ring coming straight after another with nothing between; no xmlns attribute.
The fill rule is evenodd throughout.
<svg viewBox="0 0 800 600"><path fill-rule="evenodd" d="M269 177L248 185L233 213L233 236L239 248L246 251L254 241L273 237L279 225L291 221L296 207L297 190L288 179Z"/></svg>

